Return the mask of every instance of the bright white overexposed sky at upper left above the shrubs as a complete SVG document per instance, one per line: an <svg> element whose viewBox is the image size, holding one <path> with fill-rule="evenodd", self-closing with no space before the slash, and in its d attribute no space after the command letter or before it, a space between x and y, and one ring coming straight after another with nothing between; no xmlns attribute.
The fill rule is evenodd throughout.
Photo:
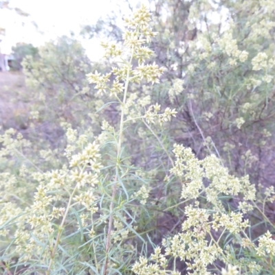
<svg viewBox="0 0 275 275"><path fill-rule="evenodd" d="M137 0L130 0L137 3ZM11 10L0 10L0 27L5 28L1 42L2 53L10 53L11 47L18 42L43 45L70 31L78 34L80 25L94 24L100 16L106 16L112 10L127 10L123 0L10 0L10 7L17 7L30 14L27 18ZM133 5L135 6L135 5ZM34 27L32 22L38 25ZM98 40L82 40L91 60L102 54Z"/></svg>

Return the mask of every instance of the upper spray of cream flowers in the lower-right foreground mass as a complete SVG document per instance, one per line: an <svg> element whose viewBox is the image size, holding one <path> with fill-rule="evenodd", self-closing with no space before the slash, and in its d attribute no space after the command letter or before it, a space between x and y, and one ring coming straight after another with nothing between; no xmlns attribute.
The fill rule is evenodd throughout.
<svg viewBox="0 0 275 275"><path fill-rule="evenodd" d="M245 200L256 198L256 189L250 184L247 177L235 178L228 173L228 169L221 165L220 160L208 156L197 160L190 148L183 145L174 145L176 156L175 165L170 172L178 177L184 177L181 198L198 198L201 191L206 192L209 202L219 204L218 196L238 195L243 193ZM208 187L203 187L203 178L210 180Z"/></svg>

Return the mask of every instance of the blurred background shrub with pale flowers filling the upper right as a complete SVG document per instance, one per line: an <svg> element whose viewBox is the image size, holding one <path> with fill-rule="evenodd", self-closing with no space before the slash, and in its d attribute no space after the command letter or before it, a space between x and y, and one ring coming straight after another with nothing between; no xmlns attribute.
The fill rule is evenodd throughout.
<svg viewBox="0 0 275 275"><path fill-rule="evenodd" d="M148 2L159 32L151 49L167 69L151 97L179 112L170 136L199 158L218 152L232 173L272 184L273 2ZM120 43L109 21L101 29Z"/></svg>

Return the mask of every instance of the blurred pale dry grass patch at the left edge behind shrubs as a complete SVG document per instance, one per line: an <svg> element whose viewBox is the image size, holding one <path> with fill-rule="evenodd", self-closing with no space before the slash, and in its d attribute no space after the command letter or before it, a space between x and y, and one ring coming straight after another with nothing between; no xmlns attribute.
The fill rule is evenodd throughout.
<svg viewBox="0 0 275 275"><path fill-rule="evenodd" d="M56 147L63 130L56 121L30 117L36 101L32 95L22 72L0 72L0 126L3 130L14 128L25 139L50 141Z"/></svg>

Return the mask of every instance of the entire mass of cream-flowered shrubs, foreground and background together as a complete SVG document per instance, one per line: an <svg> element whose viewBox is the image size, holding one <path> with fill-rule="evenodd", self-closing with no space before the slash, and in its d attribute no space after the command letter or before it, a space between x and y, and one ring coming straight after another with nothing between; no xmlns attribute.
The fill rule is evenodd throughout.
<svg viewBox="0 0 275 275"><path fill-rule="evenodd" d="M67 37L23 61L3 274L274 274L273 1L150 2L102 62Z"/></svg>

